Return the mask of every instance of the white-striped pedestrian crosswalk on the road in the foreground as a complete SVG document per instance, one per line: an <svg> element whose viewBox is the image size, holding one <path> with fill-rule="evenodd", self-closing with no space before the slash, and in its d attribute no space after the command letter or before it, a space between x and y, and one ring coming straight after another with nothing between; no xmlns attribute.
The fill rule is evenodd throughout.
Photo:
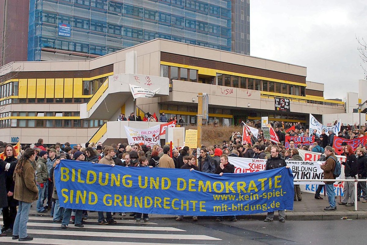
<svg viewBox="0 0 367 245"><path fill-rule="evenodd" d="M2 219L0 219L2 222ZM160 219L159 219L160 220ZM87 220L89 221L89 220ZM160 220L164 222L164 220ZM135 223L135 220L118 220L117 224L101 226L97 221L86 222L83 228L69 224L68 229L60 229L60 223L52 222L51 217L30 216L28 221L28 235L33 237L30 244L54 245L106 245L115 244L219 244L221 239L204 234L192 234L159 223ZM0 244L16 244L18 240L12 237L1 237ZM219 242L219 243L218 243Z"/></svg>

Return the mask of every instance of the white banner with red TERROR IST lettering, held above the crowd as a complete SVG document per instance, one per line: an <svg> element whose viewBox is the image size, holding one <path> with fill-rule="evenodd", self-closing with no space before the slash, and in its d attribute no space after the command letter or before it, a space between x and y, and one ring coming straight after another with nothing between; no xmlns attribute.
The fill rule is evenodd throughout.
<svg viewBox="0 0 367 245"><path fill-rule="evenodd" d="M138 143L140 145L160 145L160 125L150 127L148 129L134 129L125 127L127 141L130 144Z"/></svg>

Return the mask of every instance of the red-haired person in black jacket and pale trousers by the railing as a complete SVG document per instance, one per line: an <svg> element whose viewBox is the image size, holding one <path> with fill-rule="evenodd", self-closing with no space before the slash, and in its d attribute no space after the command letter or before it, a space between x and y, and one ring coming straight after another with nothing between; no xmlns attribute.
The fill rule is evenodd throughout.
<svg viewBox="0 0 367 245"><path fill-rule="evenodd" d="M344 148L344 153L346 156L346 161L342 162L344 165L344 175L345 179L355 179L358 173L357 168L357 158L354 154L353 148L350 145L346 145ZM338 203L339 205L345 206L354 206L354 182L348 181L344 182L344 198L343 200Z"/></svg>

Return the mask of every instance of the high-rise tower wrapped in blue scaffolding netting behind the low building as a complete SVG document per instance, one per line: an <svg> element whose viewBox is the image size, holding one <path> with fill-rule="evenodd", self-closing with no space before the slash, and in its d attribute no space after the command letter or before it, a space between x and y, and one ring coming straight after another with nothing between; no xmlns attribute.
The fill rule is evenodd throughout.
<svg viewBox="0 0 367 245"><path fill-rule="evenodd" d="M28 60L94 58L164 38L250 55L250 0L30 0Z"/></svg>

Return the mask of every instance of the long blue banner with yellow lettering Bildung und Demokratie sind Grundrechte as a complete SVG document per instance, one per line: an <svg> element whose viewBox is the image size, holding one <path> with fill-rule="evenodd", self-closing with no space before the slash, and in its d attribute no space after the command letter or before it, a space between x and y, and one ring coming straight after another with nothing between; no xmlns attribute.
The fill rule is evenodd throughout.
<svg viewBox="0 0 367 245"><path fill-rule="evenodd" d="M62 160L55 168L60 206L171 215L247 215L293 209L289 168L206 174Z"/></svg>

